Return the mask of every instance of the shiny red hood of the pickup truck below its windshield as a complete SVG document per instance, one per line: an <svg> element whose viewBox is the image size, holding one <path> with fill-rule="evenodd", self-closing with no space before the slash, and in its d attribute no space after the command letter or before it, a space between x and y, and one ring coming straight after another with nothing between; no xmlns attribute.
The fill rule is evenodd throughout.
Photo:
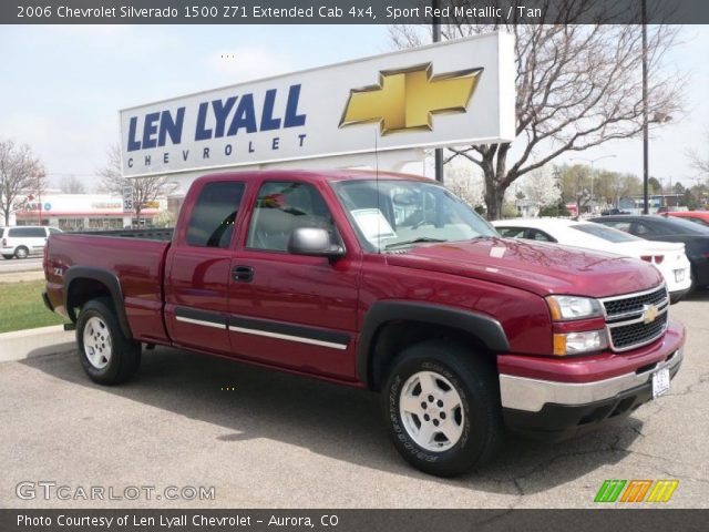
<svg viewBox="0 0 709 532"><path fill-rule="evenodd" d="M516 238L424 244L390 253L387 263L489 280L540 296L608 297L646 290L662 282L655 267L634 258Z"/></svg>

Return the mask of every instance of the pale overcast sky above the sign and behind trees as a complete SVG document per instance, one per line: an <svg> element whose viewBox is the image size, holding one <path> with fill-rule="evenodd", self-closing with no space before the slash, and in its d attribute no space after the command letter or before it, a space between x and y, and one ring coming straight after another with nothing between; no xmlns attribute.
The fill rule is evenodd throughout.
<svg viewBox="0 0 709 532"><path fill-rule="evenodd" d="M685 151L709 156L709 27L684 28L682 41L668 60L690 74L686 113L654 134L650 173L693 184ZM2 25L0 137L30 144L54 183L91 183L119 141L120 109L390 49L384 25ZM572 156L615 155L596 166L640 175L641 147Z"/></svg>

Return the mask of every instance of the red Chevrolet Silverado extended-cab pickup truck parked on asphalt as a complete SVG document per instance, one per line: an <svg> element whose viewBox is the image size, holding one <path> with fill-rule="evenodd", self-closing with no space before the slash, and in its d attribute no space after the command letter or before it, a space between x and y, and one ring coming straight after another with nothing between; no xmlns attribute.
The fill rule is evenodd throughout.
<svg viewBox="0 0 709 532"><path fill-rule="evenodd" d="M205 176L174 232L52 235L44 270L94 381L164 345L378 390L397 449L439 475L489 460L504 429L628 415L682 360L653 266L501 238L400 174Z"/></svg>

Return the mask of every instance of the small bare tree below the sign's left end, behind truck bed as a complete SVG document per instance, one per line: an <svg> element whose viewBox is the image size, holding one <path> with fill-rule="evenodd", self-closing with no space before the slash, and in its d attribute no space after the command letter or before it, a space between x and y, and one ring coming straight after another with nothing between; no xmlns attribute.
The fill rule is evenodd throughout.
<svg viewBox="0 0 709 532"><path fill-rule="evenodd" d="M121 171L121 147L113 144L109 147L106 166L97 171L101 176L99 187L117 196L123 195L124 187L133 190L133 207L137 223L141 223L141 213L145 206L160 197L173 192L176 185L168 182L164 175L147 177L125 178Z"/></svg>

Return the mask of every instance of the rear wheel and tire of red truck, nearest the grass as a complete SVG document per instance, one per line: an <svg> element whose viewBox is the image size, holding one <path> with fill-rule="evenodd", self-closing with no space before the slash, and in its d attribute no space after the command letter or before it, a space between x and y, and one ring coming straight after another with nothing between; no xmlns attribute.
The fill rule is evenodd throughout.
<svg viewBox="0 0 709 532"><path fill-rule="evenodd" d="M86 303L76 320L79 358L86 375L100 385L129 380L141 365L141 344L125 337L111 299Z"/></svg>

